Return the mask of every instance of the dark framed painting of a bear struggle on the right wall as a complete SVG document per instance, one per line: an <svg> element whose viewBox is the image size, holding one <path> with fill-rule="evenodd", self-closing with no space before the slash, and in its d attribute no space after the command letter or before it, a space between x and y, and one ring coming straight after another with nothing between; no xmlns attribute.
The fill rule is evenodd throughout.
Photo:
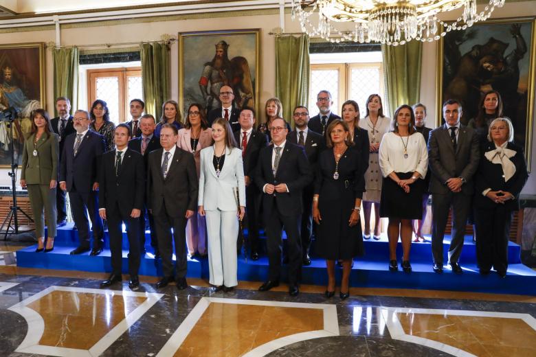
<svg viewBox="0 0 536 357"><path fill-rule="evenodd" d="M462 124L478 115L485 93L497 91L503 116L514 128L514 141L531 167L535 82L535 17L495 19L448 32L438 42L438 120L443 102L462 102ZM471 123L472 124L472 123ZM485 130L485 129L484 129Z"/></svg>

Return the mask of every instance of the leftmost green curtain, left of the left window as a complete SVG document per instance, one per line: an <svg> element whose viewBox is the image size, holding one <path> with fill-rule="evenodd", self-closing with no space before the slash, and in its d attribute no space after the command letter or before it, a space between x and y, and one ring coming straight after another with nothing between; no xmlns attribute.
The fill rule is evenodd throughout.
<svg viewBox="0 0 536 357"><path fill-rule="evenodd" d="M78 48L76 47L54 49L54 102L57 97L69 98L71 112L78 108ZM56 105L54 112L56 113Z"/></svg>

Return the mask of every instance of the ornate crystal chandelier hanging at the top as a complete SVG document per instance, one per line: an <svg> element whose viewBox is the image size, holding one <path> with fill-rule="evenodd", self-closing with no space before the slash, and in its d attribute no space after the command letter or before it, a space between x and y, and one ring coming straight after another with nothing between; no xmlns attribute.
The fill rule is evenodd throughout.
<svg viewBox="0 0 536 357"><path fill-rule="evenodd" d="M309 36L327 41L396 46L413 39L432 42L451 30L465 30L502 5L504 0L489 0L478 12L476 0L292 0L292 19L298 18ZM460 8L462 16L456 21L445 23L437 17Z"/></svg>

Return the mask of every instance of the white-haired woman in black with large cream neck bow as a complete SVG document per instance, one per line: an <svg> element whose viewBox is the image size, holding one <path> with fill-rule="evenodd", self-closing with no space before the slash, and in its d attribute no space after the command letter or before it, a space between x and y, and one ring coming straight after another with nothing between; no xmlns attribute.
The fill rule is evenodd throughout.
<svg viewBox="0 0 536 357"><path fill-rule="evenodd" d="M520 192L528 178L523 150L512 140L510 119L497 118L489 125L487 143L480 150L473 208L476 258L484 275L493 266L500 277L506 277L513 211L520 209Z"/></svg>

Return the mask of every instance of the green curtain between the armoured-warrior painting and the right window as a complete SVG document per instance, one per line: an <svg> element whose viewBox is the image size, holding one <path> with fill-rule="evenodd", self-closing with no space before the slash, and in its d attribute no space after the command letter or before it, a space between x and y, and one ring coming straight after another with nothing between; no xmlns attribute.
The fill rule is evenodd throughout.
<svg viewBox="0 0 536 357"><path fill-rule="evenodd" d="M295 106L309 99L309 36L276 37L276 97L281 100L284 119L293 126Z"/></svg>

